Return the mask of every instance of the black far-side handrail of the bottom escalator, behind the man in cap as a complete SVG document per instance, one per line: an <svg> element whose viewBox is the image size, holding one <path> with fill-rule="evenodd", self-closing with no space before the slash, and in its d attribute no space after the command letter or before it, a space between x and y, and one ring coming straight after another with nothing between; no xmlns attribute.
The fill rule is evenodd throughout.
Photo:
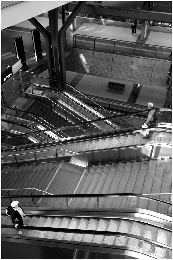
<svg viewBox="0 0 173 260"><path fill-rule="evenodd" d="M3 191L3 190L2 190ZM169 193L171 195L171 193ZM95 193L95 194L52 194L52 195L3 195L1 198L119 198L119 197L135 197L135 198L143 198L148 200L154 200L155 202L161 202L166 205L171 206L172 202L160 199L156 197L152 197L149 195L143 195L138 193Z"/></svg>

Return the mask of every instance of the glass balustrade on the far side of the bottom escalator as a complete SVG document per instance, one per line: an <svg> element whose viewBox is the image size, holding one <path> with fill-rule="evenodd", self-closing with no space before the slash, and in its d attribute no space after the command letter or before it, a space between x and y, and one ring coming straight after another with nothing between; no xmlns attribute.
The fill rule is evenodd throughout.
<svg viewBox="0 0 173 260"><path fill-rule="evenodd" d="M39 177L38 177L39 178ZM33 198L18 198L18 195L28 196L32 195ZM91 211L91 212L136 212L136 216L143 217L144 211L136 211L136 209L148 210L146 214L150 214L150 211L157 212L166 216L171 216L171 202L169 202L170 194L74 194L74 195L54 195L55 198L51 198L50 193L41 192L36 189L20 189L20 190L2 190L2 207L5 207L10 203L8 198L3 196L15 196L15 200L20 201L21 207L32 207L39 210L70 210L70 211ZM40 195L41 194L41 195ZM53 195L53 194L52 194ZM167 196L168 200L160 199L162 196ZM36 198L34 198L36 196ZM44 197L45 196L45 197ZM46 197L47 196L47 197ZM67 197L66 197L67 196ZM94 196L94 197L92 197ZM96 197L97 196L97 197ZM14 199L12 199L14 200ZM169 203L168 203L169 202ZM154 218L151 218L154 220ZM161 224L162 225L162 224Z"/></svg>

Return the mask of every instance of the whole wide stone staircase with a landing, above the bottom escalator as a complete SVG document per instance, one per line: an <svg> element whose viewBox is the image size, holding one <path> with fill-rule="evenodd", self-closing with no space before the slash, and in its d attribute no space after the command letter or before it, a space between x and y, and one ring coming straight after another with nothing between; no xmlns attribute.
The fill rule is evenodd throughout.
<svg viewBox="0 0 173 260"><path fill-rule="evenodd" d="M58 174L50 183L58 165L54 163L5 167L2 169L2 189L37 188L52 194L102 194L102 193L171 193L172 159L134 161L109 165L92 165L89 169L61 162ZM52 170L53 169L53 170ZM72 170L73 169L73 170ZM62 174L61 175L61 171ZM68 176L68 172L73 172ZM77 174L78 172L78 174ZM62 177L61 177L62 176ZM82 178L81 178L82 176ZM59 179L58 179L59 178ZM68 180L69 178L69 180ZM81 179L80 179L81 178ZM70 180L72 179L72 180ZM79 181L80 180L80 181ZM71 184L68 183L70 181ZM11 183L11 185L10 185ZM55 185L56 183L56 185ZM73 189L70 189L73 185ZM61 193L59 193L62 191ZM6 195L5 191L2 195ZM10 191L10 195L25 195L30 191ZM42 194L34 191L34 194ZM153 195L170 201L170 195ZM40 203L41 202L41 203ZM9 204L3 199L2 206ZM29 199L22 199L21 206L32 206ZM66 209L66 199L41 199L36 206ZM97 198L68 199L69 209L96 209ZM99 209L140 208L171 216L171 209L163 203L139 198L99 198Z"/></svg>

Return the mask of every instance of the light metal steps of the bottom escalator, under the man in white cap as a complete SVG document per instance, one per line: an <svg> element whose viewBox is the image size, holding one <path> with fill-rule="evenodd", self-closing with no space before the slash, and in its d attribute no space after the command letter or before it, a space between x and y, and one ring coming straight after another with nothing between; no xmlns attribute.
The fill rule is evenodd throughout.
<svg viewBox="0 0 173 260"><path fill-rule="evenodd" d="M11 220L2 215L2 224L11 224ZM26 216L24 224L27 226L43 226L51 228L67 228L67 229L83 229L83 230L99 230L99 231L114 231L128 233L140 236L141 239L148 238L152 241L171 246L171 232L158 228L154 225L143 224L131 220L121 219L98 219L98 218L74 218L74 217L39 217ZM18 233L15 229L1 230L2 236L16 236ZM170 251L150 245L146 242L141 242L137 239L130 239L119 236L103 236L90 234L75 234L65 232L39 231L39 230L22 230L23 238L47 238L63 241L75 241L81 243L94 243L115 245L122 247L130 247L131 250L141 250L148 254L154 254L155 257L171 258ZM19 237L19 235L18 235Z"/></svg>

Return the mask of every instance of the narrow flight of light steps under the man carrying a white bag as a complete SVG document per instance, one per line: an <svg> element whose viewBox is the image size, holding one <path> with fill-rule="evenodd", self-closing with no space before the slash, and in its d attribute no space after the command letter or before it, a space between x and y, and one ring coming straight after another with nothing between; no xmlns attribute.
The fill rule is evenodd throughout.
<svg viewBox="0 0 173 260"><path fill-rule="evenodd" d="M37 157L43 156L50 156L55 155L55 151L45 151L51 149L65 149L71 152L82 152L82 151L92 151L97 149L104 149L104 148L113 148L113 147L124 147L124 146L131 146L131 145L140 145L140 144L149 144L149 143L165 143L171 142L171 133L167 132L153 132L150 139L143 139L143 135L139 133L133 134L123 134L119 136L113 136L109 138L100 138L100 139L93 139L92 141L79 141L79 142L71 142L68 144L63 145L52 145L52 146L45 146L41 148L31 148L26 150L20 151L7 151L3 152L2 155L12 155L12 154L21 154L17 155L17 159L26 159L26 158L34 158L33 153L27 154L27 152L36 152ZM43 151L43 152L41 152ZM67 151L58 150L58 154L66 154ZM4 157L3 161L8 161L8 157Z"/></svg>

